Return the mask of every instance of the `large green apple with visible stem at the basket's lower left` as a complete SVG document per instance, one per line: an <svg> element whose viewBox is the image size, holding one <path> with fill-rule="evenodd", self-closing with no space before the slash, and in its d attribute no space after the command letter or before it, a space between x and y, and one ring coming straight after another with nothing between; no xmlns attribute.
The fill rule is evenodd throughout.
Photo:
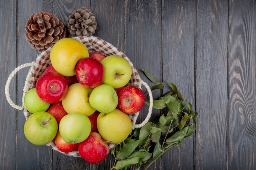
<svg viewBox="0 0 256 170"><path fill-rule="evenodd" d="M53 115L47 112L33 113L24 124L27 140L35 145L46 145L54 139L58 124Z"/></svg>

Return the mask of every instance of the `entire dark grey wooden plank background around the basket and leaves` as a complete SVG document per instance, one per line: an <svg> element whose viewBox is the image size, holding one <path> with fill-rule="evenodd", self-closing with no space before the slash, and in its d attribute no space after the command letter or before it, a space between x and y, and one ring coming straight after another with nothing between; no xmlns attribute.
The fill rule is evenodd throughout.
<svg viewBox="0 0 256 170"><path fill-rule="evenodd" d="M47 11L67 25L68 15L79 7L92 9L98 22L95 36L126 53L144 81L153 85L142 68L171 80L199 112L196 132L150 170L256 169L255 0L1 0L0 169L112 166L110 155L92 165L29 143L23 133L24 115L4 95L11 71L38 55L24 36L29 16ZM19 105L27 71L18 72L11 82L11 98ZM138 121L146 113L145 107ZM154 110L150 120L159 115Z"/></svg>

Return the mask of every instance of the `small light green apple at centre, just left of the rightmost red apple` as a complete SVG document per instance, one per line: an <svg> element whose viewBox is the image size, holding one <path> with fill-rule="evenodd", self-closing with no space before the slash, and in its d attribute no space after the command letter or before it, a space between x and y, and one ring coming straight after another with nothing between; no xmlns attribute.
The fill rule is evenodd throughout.
<svg viewBox="0 0 256 170"><path fill-rule="evenodd" d="M117 107L118 97L112 86L101 84L92 90L89 102L97 111L108 113Z"/></svg>

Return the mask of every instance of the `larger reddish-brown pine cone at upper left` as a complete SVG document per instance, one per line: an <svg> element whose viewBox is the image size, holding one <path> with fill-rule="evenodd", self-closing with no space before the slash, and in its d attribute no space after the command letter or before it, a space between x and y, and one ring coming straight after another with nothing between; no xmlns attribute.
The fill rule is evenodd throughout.
<svg viewBox="0 0 256 170"><path fill-rule="evenodd" d="M43 11L32 14L27 20L25 29L27 42L39 53L66 36L64 23L56 15Z"/></svg>

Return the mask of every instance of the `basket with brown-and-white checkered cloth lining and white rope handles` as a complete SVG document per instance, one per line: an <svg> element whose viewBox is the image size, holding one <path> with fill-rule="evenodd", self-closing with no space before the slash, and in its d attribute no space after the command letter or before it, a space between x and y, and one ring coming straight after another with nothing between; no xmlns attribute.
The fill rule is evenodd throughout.
<svg viewBox="0 0 256 170"><path fill-rule="evenodd" d="M99 52L102 53L106 56L109 55L119 55L121 57L124 57L130 64L130 66L132 67L132 77L128 83L128 85L133 85L133 86L137 86L139 88L142 88L142 85L144 85L149 93L149 97L150 97L150 106L148 109L148 115L145 118L145 120L141 123L141 124L135 124L136 123L136 119L139 115L138 113L132 114L130 115L130 119L132 120L132 128L140 128L142 126L144 126L149 118L150 115L152 113L152 107L153 107L153 97L152 97L152 93L150 91L149 86L140 79L139 74L135 68L135 66L132 64L132 62L128 59L128 57L122 53L119 49L117 49L115 46L113 46L112 44L102 40L101 38L97 38L94 36L90 36L90 37L86 37L86 36L81 36L81 37L74 37L74 39L79 40L80 42L82 42L88 49L89 52ZM35 61L31 62L31 63L27 63L27 64L22 64L20 66L18 66L9 76L6 86L5 86L5 95L7 98L7 101L9 102L9 104L13 107L16 108L18 110L22 110L22 112L25 115L25 118L27 119L29 117L29 115L31 115L31 113L29 113L27 111L27 109L24 106L24 96L25 93L30 90L31 88L35 88L36 87L36 82L38 80L38 78L40 77L40 75L42 75L43 71L47 68L47 66L49 66L51 64L50 62L50 51L51 51L52 47L50 47L49 49L47 49L46 51L44 51L43 53L41 53ZM18 106L16 104L13 103L13 101L10 98L9 95L9 86L10 86L10 82L11 79L15 76L15 74L22 68L25 67L30 67L29 72L27 74L27 78L25 80L25 85L23 88L23 96L22 96L22 106ZM49 146L50 148L52 148L53 150L57 150L58 152L61 152L57 149L54 141L51 141L49 144L47 144L47 146ZM114 147L113 144L110 144L110 148ZM73 152L61 152L65 155L69 155L69 156L74 156L74 157L79 157L79 152L78 150L75 150Z"/></svg>

